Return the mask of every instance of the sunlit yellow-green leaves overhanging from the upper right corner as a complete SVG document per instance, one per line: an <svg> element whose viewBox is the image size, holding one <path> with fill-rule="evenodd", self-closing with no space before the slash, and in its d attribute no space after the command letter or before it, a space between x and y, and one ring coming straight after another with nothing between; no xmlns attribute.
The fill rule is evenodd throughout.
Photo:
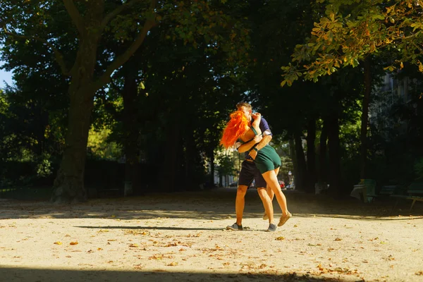
<svg viewBox="0 0 423 282"><path fill-rule="evenodd" d="M284 66L281 85L291 85L299 73L317 81L343 66L358 66L369 54L389 50L397 59L386 69L393 71L410 62L423 71L419 45L422 36L421 1L326 1L325 15L314 23L305 44L298 44L293 62Z"/></svg>

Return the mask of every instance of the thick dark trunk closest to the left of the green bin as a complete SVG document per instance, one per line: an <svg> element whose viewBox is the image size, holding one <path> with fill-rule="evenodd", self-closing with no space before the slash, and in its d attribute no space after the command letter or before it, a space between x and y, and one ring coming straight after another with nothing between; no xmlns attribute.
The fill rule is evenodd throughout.
<svg viewBox="0 0 423 282"><path fill-rule="evenodd" d="M329 192L333 196L341 195L341 157L339 148L338 114L333 113L328 118L329 145Z"/></svg>

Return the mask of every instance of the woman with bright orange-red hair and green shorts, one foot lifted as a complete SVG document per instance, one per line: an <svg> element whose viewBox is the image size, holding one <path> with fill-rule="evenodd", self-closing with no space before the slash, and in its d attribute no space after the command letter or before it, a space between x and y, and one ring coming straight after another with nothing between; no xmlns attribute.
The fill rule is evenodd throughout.
<svg viewBox="0 0 423 282"><path fill-rule="evenodd" d="M226 128L223 130L221 145L228 149L233 147L235 142L250 142L255 139L255 135L262 135L262 130L259 128L262 118L261 114L252 114L252 118L254 118L254 121L250 125L243 111L234 111L231 114L231 120L228 121ZM270 145L266 145L259 150L254 146L250 151L253 149L257 151L254 162L260 173L262 173L264 180L266 180L267 185L275 193L276 200L278 200L278 204L281 207L282 216L279 219L278 226L283 226L292 214L288 212L286 197L281 191L281 185L279 185L277 178L279 167L281 166L281 157L278 156L274 147Z"/></svg>

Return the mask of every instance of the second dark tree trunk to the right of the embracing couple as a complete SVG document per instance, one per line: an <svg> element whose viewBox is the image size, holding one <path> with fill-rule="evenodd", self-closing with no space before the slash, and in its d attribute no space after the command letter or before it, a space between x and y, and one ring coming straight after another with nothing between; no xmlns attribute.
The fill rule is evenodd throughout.
<svg viewBox="0 0 423 282"><path fill-rule="evenodd" d="M316 141L316 119L310 118L307 125L307 186L306 192L314 192L316 182L316 152L314 142Z"/></svg>

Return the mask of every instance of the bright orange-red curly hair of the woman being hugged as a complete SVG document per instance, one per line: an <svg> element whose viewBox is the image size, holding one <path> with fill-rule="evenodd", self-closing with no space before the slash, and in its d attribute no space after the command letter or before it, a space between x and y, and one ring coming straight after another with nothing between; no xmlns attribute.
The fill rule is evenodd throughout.
<svg viewBox="0 0 423 282"><path fill-rule="evenodd" d="M247 117L243 111L234 111L231 114L231 120L226 124L226 128L223 130L223 136L221 139L221 145L228 149L232 147L239 137L243 136L248 130Z"/></svg>

